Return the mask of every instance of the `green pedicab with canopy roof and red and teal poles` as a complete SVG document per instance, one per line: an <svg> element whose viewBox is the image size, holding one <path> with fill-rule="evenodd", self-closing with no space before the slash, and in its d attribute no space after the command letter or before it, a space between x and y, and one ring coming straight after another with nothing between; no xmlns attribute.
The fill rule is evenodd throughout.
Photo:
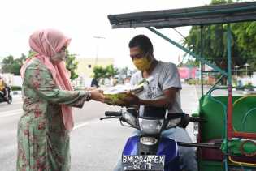
<svg viewBox="0 0 256 171"><path fill-rule="evenodd" d="M256 21L256 2L230 3L215 6L200 6L163 11L142 11L128 14L108 15L112 28L146 28L177 48L184 50L202 65L208 65L221 77L199 100L199 109L193 113L198 119L197 143L182 143L181 146L197 147L197 165L200 171L256 170L256 95L234 95L232 83L232 33L230 24ZM160 32L161 28L200 26L209 24L227 25L227 66L221 68L204 57L184 48ZM202 67L201 67L202 68ZM201 69L201 80L204 71ZM218 83L227 80L227 85ZM241 88L241 87L240 87ZM213 92L226 90L226 96ZM197 121L198 121L197 120ZM195 124L197 126L197 124Z"/></svg>

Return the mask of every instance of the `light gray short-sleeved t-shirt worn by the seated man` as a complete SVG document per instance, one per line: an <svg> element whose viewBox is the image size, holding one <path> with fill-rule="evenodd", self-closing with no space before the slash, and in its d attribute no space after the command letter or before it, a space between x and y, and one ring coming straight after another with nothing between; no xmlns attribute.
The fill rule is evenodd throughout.
<svg viewBox="0 0 256 171"><path fill-rule="evenodd" d="M159 61L152 71L150 83L145 86L145 90L138 96L141 99L158 99L163 96L163 91L167 88L181 89L180 75L177 66L171 62ZM141 71L132 75L130 83L136 85L143 80ZM180 90L176 92L176 99L172 106L168 107L169 113L183 113L180 105Z"/></svg>

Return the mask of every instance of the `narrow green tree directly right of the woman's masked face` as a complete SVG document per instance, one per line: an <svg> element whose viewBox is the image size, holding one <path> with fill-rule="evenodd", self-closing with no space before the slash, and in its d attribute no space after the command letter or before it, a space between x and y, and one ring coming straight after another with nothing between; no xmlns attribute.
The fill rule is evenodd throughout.
<svg viewBox="0 0 256 171"><path fill-rule="evenodd" d="M71 72L71 78L72 80L76 79L78 75L76 74L76 69L78 62L76 61L76 54L69 53L66 51L67 60L66 60L66 67L67 70Z"/></svg>

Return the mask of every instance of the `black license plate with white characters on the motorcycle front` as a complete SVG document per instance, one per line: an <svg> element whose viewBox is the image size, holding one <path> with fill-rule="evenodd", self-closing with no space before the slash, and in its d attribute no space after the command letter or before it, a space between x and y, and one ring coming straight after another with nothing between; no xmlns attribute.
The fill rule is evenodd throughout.
<svg viewBox="0 0 256 171"><path fill-rule="evenodd" d="M164 170L164 156L123 156L124 170Z"/></svg>

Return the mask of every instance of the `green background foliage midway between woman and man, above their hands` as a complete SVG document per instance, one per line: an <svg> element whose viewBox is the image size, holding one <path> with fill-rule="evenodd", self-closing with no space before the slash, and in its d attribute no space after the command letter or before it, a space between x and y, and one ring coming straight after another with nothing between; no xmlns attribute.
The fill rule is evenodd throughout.
<svg viewBox="0 0 256 171"><path fill-rule="evenodd" d="M113 65L106 66L105 68L102 66L93 67L93 77L95 79L110 78L111 76L115 76L117 74L117 69L115 69Z"/></svg>

